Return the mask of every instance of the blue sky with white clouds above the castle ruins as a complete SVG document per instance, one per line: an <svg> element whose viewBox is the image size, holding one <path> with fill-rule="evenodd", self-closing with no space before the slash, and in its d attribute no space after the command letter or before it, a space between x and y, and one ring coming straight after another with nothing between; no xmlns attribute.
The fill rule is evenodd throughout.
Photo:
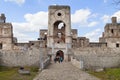
<svg viewBox="0 0 120 80"><path fill-rule="evenodd" d="M112 16L120 22L120 10L112 0L0 0L0 13L12 23L14 37L27 42L37 40L40 29L47 29L49 5L69 5L72 28L90 41L98 41Z"/></svg>

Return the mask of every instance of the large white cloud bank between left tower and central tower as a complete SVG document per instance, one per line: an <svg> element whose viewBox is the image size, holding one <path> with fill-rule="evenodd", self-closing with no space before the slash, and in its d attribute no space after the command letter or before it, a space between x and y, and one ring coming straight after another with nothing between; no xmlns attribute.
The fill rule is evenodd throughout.
<svg viewBox="0 0 120 80"><path fill-rule="evenodd" d="M13 22L13 31L18 41L29 41L35 38L34 36L24 34L26 33L38 33L40 29L47 28L48 24L48 12L38 12L35 14L26 14L24 16L26 22L19 23Z"/></svg>

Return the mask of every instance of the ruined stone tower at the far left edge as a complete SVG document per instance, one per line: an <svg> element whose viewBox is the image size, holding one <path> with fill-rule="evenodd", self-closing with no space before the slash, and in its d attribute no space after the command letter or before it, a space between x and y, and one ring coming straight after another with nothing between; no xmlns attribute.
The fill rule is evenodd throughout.
<svg viewBox="0 0 120 80"><path fill-rule="evenodd" d="M12 49L13 28L11 23L6 23L4 14L0 15L0 49Z"/></svg>

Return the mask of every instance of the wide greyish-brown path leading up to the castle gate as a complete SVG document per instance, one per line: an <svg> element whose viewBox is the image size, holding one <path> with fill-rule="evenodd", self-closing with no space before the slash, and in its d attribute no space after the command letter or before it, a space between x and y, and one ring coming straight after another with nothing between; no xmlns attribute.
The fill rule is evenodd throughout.
<svg viewBox="0 0 120 80"><path fill-rule="evenodd" d="M74 67L70 62L51 63L36 76L34 80L100 80L80 69Z"/></svg>

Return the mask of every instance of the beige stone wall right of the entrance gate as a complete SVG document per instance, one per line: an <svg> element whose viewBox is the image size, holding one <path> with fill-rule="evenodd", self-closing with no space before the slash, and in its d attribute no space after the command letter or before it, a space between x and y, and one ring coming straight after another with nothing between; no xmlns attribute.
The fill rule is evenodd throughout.
<svg viewBox="0 0 120 80"><path fill-rule="evenodd" d="M79 48L73 52L74 58L87 69L120 66L120 48Z"/></svg>

